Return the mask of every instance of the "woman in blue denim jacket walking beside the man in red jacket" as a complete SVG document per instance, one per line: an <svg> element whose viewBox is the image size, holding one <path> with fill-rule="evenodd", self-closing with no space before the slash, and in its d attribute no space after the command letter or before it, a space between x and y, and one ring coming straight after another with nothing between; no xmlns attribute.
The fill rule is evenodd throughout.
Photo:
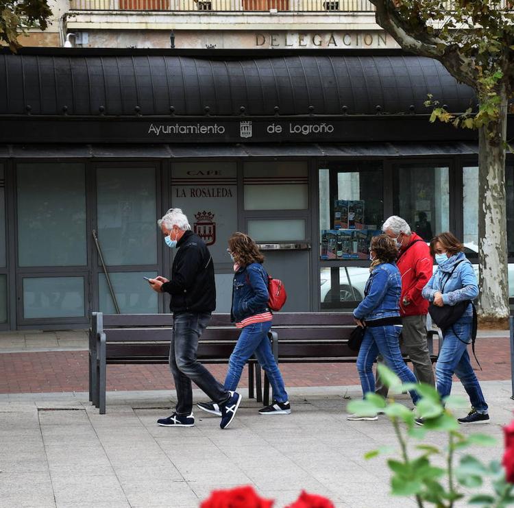
<svg viewBox="0 0 514 508"><path fill-rule="evenodd" d="M375 376L373 363L378 354L384 358L386 365L393 370L404 383L416 383L416 376L408 369L400 352L400 293L402 280L395 260L398 254L394 239L387 234L379 234L371 239L369 247L371 274L364 289L364 300L354 311L354 318L359 326L365 326L363 343L357 356L357 371L363 394L374 394ZM419 396L410 391L413 402ZM377 416L348 415L347 420L377 420Z"/></svg>

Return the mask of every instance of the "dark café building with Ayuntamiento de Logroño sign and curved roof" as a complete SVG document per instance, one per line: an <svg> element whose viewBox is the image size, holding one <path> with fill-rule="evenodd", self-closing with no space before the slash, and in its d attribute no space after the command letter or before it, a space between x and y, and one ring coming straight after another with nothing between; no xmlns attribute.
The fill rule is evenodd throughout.
<svg viewBox="0 0 514 508"><path fill-rule="evenodd" d="M143 276L169 275L156 219L171 207L210 247L218 312L234 231L284 280L287 311L361 300L389 215L426 240L452 230L476 263L476 133L430 123L428 93L476 107L441 64L391 49L0 53L0 327L167 312Z"/></svg>

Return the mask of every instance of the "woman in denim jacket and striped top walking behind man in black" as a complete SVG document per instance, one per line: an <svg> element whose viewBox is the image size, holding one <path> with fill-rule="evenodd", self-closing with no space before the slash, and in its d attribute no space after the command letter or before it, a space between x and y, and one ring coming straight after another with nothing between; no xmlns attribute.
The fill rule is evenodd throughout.
<svg viewBox="0 0 514 508"><path fill-rule="evenodd" d="M260 409L259 414L289 414L291 405L268 339L273 314L269 309L268 274L262 266L264 256L256 243L240 232L232 234L227 251L234 262L230 317L236 327L241 328L241 335L228 361L225 389L236 389L245 363L255 354L273 389L273 402ZM199 402L197 405L208 413L221 415L219 407L213 402Z"/></svg>

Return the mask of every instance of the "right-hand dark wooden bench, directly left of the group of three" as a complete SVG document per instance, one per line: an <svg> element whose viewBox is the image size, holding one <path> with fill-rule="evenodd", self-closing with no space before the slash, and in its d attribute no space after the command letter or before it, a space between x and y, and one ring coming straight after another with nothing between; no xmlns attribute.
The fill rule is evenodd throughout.
<svg viewBox="0 0 514 508"><path fill-rule="evenodd" d="M273 332L276 332L278 363L350 363L358 352L348 348L350 333L355 327L352 313L276 313L273 315ZM434 337L428 320L428 350L432 363L437 360ZM404 356L408 361L408 356ZM269 382L264 381L265 401L269 400ZM265 402L266 404L266 402Z"/></svg>

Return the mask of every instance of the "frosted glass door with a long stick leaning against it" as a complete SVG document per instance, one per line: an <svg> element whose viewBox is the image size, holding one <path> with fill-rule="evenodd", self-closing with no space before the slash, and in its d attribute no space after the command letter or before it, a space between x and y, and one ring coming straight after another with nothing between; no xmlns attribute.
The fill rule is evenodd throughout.
<svg viewBox="0 0 514 508"><path fill-rule="evenodd" d="M158 275L162 239L158 167L98 165L96 228L108 277L95 250L98 309L103 313L158 313L158 295L143 277ZM109 283L110 282L110 285Z"/></svg>

